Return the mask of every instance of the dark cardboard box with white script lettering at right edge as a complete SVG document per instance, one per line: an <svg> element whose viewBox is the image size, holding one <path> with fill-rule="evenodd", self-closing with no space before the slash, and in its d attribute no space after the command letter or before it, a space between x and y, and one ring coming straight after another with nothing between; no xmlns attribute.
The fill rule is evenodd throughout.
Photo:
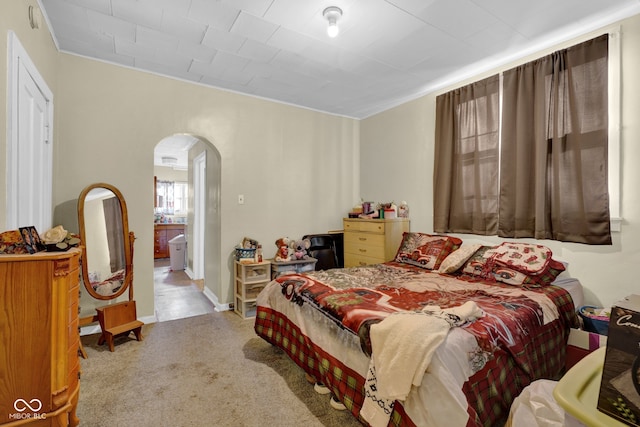
<svg viewBox="0 0 640 427"><path fill-rule="evenodd" d="M598 410L640 426L640 295L611 308Z"/></svg>

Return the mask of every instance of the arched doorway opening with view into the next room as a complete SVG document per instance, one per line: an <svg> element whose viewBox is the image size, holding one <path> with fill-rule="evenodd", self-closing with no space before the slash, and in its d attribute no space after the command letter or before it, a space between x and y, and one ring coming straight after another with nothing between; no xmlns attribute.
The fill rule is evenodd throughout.
<svg viewBox="0 0 640 427"><path fill-rule="evenodd" d="M216 298L211 291L212 286L207 284L220 280L219 152L208 140L197 135L168 136L154 149L154 174L156 185L171 185L172 177L183 180L179 184L180 190L176 190L177 194L173 195L183 197L184 200L173 199L168 205L186 209L186 212L176 214L174 211L170 215L170 209L163 211L162 208L154 207L154 230L180 227L161 225L157 223L159 220L169 224L184 223L186 240L182 270L173 268L182 265L181 261L176 262L177 258L172 259L171 254L169 258L156 258L154 250L156 317L158 321L165 321L214 311ZM173 183L176 185L175 181ZM158 187L154 190L163 191ZM159 204L158 194L154 199ZM155 234L154 238L158 233ZM158 246L157 241L154 244ZM181 247L180 243L167 244L169 252L173 248L173 255L179 254L176 249ZM162 254L164 255L166 253Z"/></svg>

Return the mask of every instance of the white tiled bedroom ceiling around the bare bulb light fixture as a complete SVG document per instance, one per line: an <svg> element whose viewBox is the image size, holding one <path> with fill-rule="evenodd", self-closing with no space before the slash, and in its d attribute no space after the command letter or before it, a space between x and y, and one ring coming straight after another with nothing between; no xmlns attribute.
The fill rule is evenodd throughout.
<svg viewBox="0 0 640 427"><path fill-rule="evenodd" d="M60 51L357 119L640 13L640 0L38 0ZM338 6L329 38L322 11Z"/></svg>

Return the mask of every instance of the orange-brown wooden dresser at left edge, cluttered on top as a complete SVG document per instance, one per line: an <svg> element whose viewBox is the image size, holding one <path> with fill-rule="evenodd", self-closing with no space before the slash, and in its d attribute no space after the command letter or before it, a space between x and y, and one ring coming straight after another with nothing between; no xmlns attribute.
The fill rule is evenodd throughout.
<svg viewBox="0 0 640 427"><path fill-rule="evenodd" d="M0 255L0 425L77 426L81 250Z"/></svg>

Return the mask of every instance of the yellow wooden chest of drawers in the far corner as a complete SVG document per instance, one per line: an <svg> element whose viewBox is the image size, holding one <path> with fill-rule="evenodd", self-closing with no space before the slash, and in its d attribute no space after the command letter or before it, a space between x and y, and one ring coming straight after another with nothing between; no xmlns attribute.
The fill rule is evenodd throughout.
<svg viewBox="0 0 640 427"><path fill-rule="evenodd" d="M379 264L391 261L402 234L409 231L408 218L344 218L344 266Z"/></svg>

